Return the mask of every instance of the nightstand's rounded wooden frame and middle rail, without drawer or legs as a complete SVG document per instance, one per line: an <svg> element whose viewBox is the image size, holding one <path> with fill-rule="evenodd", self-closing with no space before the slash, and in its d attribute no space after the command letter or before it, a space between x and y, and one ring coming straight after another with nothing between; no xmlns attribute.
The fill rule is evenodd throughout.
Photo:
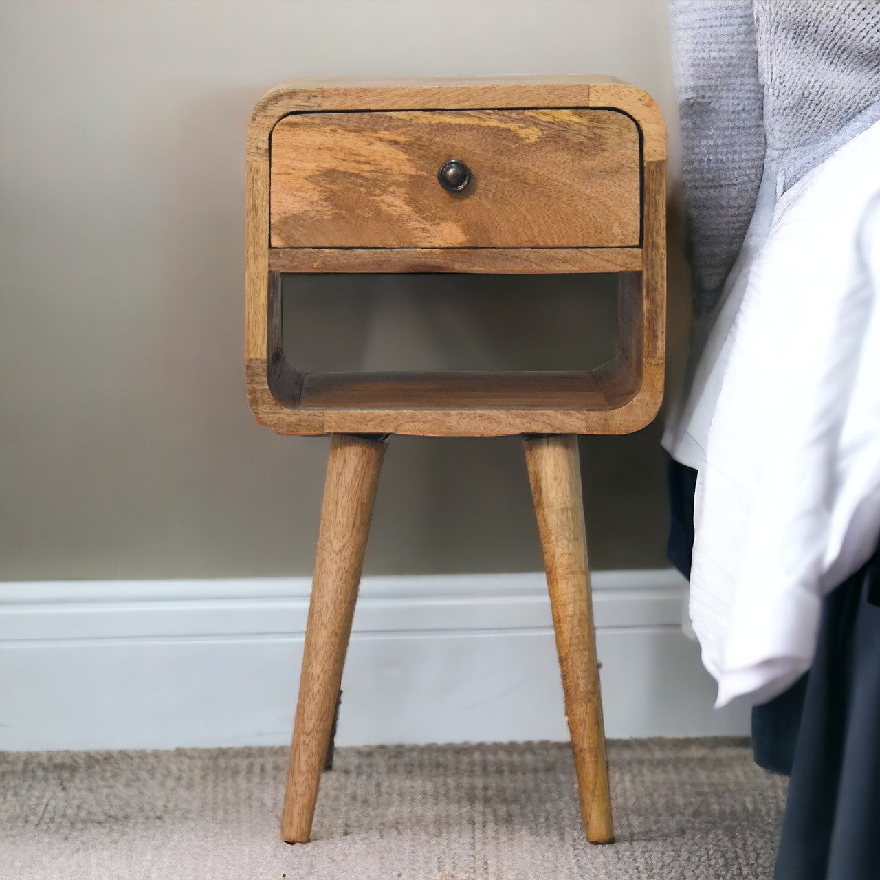
<svg viewBox="0 0 880 880"><path fill-rule="evenodd" d="M640 246L269 247L269 141L280 120L296 119L290 114L314 116L328 111L488 108L546 108L564 113L602 108L606 113L617 109L627 114L642 138ZM625 120L621 114L608 113ZM467 123L458 128L469 127ZM474 128L486 130L484 126ZM254 110L247 136L246 362L248 399L254 415L281 434L624 434L643 428L656 415L663 396L664 155L663 118L654 101L634 86L609 77L449 78L371 83L301 80L275 87ZM539 172L536 175L539 179ZM552 374L529 378L521 400L515 400L510 385L505 385L507 380L498 376L478 375L460 381L450 376L447 392L439 392L436 382L423 376L410 376L414 385L408 391L402 388L400 378L389 384L383 377L373 377L385 384L368 392L362 381L365 377L343 374L334 378L298 370L284 356L280 333L274 329L279 321L279 303L270 302L275 273L354 271L627 273L620 288L620 351L598 370L578 374L565 383ZM272 315L275 317L270 319ZM565 388L573 392L568 400L557 393ZM420 401L422 392L427 397ZM541 395L544 406L540 405Z"/></svg>

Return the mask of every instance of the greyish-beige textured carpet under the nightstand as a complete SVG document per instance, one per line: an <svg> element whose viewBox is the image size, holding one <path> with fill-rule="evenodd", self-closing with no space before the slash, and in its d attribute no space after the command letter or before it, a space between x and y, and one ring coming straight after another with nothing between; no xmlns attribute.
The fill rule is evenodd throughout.
<svg viewBox="0 0 880 880"><path fill-rule="evenodd" d="M743 740L613 742L618 842L594 847L567 744L339 749L290 847L285 752L0 754L0 877L761 880L787 785Z"/></svg>

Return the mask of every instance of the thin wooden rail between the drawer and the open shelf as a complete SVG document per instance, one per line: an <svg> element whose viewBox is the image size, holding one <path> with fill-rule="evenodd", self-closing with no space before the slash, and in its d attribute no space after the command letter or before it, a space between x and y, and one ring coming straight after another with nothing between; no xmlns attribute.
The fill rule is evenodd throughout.
<svg viewBox="0 0 880 880"><path fill-rule="evenodd" d="M273 272L641 272L641 247L272 247Z"/></svg>

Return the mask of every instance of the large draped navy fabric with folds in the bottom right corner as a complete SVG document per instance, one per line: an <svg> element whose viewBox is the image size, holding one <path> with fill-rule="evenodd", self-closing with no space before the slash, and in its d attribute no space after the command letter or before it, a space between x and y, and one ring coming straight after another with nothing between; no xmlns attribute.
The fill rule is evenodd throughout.
<svg viewBox="0 0 880 880"><path fill-rule="evenodd" d="M880 546L825 599L774 880L880 878Z"/></svg>

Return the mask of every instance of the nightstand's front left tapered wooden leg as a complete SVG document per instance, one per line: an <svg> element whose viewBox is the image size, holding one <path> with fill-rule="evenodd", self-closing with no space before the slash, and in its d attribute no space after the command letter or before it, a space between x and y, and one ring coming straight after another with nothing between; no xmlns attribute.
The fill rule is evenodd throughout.
<svg viewBox="0 0 880 880"><path fill-rule="evenodd" d="M327 459L282 839L306 843L333 730L384 439L334 434Z"/></svg>

